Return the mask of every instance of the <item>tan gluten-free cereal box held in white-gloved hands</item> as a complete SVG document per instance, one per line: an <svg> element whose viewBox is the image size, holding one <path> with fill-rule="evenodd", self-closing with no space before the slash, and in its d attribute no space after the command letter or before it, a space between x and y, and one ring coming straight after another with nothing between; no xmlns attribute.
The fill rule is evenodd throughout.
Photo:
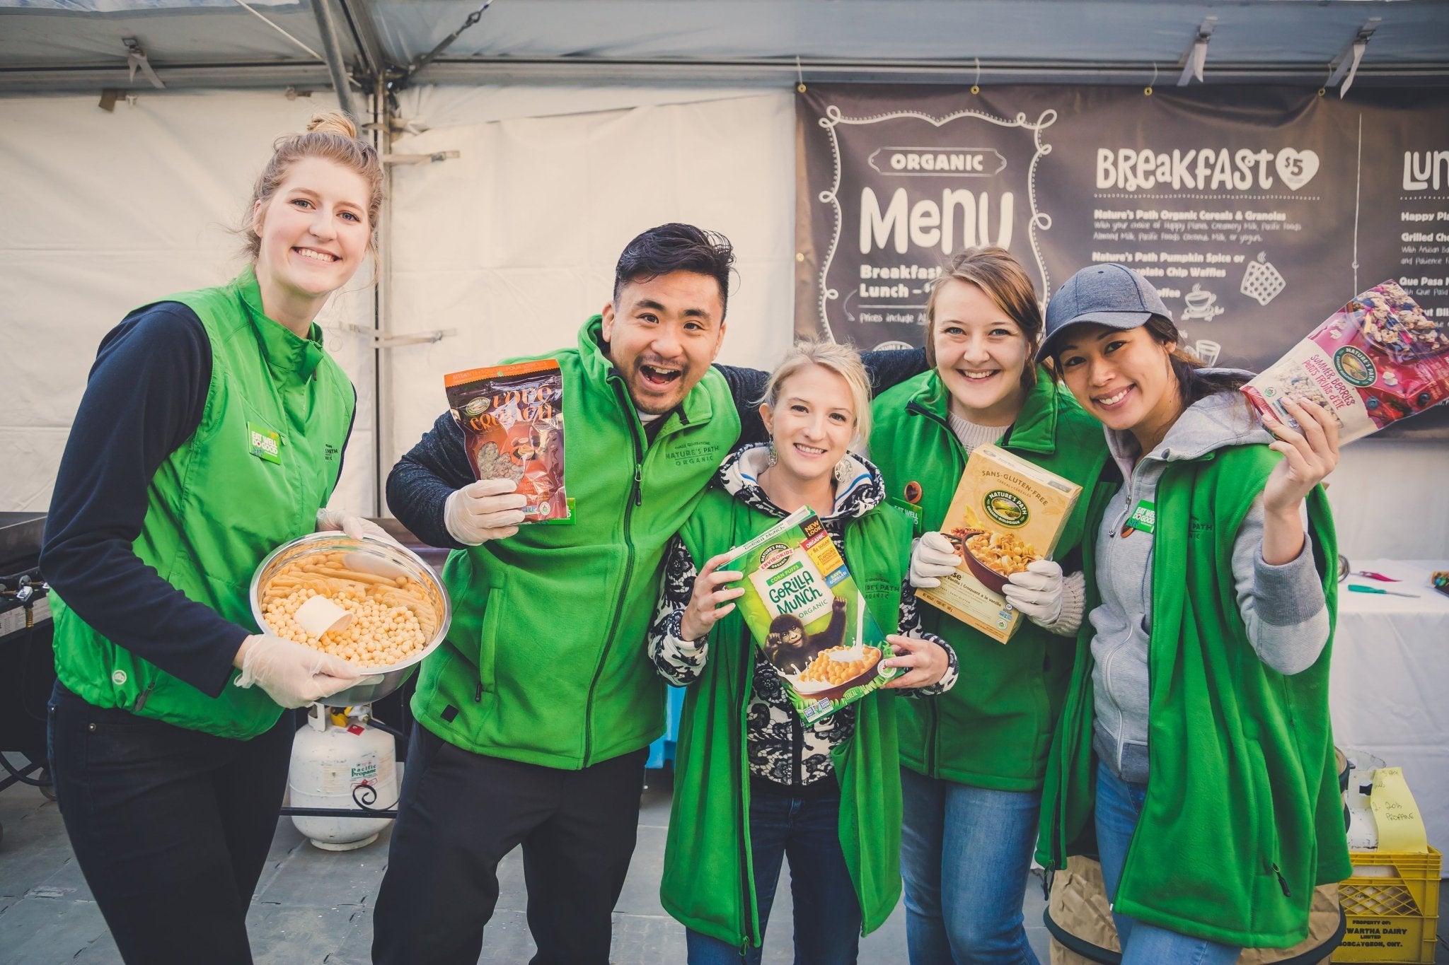
<svg viewBox="0 0 1449 965"><path fill-rule="evenodd" d="M961 566L916 596L1003 644L1022 613L1001 595L1007 577L1052 558L1081 486L998 446L971 450L940 532Z"/></svg>

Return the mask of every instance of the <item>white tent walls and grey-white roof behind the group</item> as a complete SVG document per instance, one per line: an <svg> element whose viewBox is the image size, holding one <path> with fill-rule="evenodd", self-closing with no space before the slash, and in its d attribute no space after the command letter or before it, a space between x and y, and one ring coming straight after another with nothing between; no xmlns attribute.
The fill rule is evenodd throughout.
<svg viewBox="0 0 1449 965"><path fill-rule="evenodd" d="M778 357L796 297L796 54L807 81L971 82L980 55L982 84L1085 77L1091 65L1107 71L1091 80L1119 71L1145 84L1158 59L1169 85L1216 16L1208 82L1317 87L1379 17L1355 84L1449 74L1449 7L1417 0L498 0L410 77L474 3L330 0L335 45L312 6L249 6L317 54L333 46L359 81L355 110L393 122L377 124L398 161L378 284L359 278L319 320L359 392L333 503L369 512L385 509L380 482L443 409L442 375L571 344L642 229L678 220L727 234L739 272L722 362ZM123 38L165 90L141 69L128 80ZM125 311L235 273L229 229L271 140L336 103L325 61L235 0L0 0L0 297L13 373L0 381L0 447L12 454L0 508L46 508L85 370ZM103 90L116 91L109 111ZM380 331L423 340L374 349ZM1442 444L1355 444L1330 489L1340 544L1361 558L1440 556L1449 502L1371 511L1384 460L1430 490L1449 476Z"/></svg>

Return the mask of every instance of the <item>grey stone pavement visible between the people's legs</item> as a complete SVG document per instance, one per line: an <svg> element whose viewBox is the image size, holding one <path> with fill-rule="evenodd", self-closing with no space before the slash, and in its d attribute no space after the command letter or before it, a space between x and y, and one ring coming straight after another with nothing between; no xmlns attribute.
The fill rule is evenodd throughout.
<svg viewBox="0 0 1449 965"><path fill-rule="evenodd" d="M12 760L14 760L12 757ZM649 771L639 815L639 845L614 911L613 961L619 965L684 962L684 929L659 907L659 872L669 820L669 774ZM387 832L358 851L313 848L281 819L248 930L258 965L367 965L372 901L387 865ZM785 872L788 874L788 871ZM523 861L517 851L498 868L498 907L484 932L480 962L527 962ZM1037 956L1048 961L1040 881L1032 878L1026 923ZM790 962L790 888L781 881L765 936L764 961ZM0 791L0 961L6 965L119 965L100 910L71 855L61 816L32 787ZM906 962L906 916L861 943L862 965Z"/></svg>

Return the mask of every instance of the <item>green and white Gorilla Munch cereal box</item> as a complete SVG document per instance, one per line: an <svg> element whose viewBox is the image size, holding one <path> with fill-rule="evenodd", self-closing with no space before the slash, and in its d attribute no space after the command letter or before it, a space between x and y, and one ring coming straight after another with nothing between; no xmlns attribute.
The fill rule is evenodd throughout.
<svg viewBox="0 0 1449 965"><path fill-rule="evenodd" d="M881 667L894 655L885 634L809 506L736 547L724 566L745 574L740 615L806 723L895 676Z"/></svg>

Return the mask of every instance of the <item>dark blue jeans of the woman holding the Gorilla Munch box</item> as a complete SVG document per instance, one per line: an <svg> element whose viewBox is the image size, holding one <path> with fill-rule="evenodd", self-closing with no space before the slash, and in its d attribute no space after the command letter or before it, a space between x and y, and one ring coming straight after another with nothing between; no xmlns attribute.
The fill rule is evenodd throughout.
<svg viewBox="0 0 1449 965"><path fill-rule="evenodd" d="M833 778L827 778L832 780ZM840 794L791 797L761 790L749 797L749 849L755 862L759 938L765 938L775 901L780 864L790 858L790 897L796 907L796 962L851 965L861 946L861 903L840 851ZM748 955L707 935L685 932L690 965L759 965L761 949Z"/></svg>

